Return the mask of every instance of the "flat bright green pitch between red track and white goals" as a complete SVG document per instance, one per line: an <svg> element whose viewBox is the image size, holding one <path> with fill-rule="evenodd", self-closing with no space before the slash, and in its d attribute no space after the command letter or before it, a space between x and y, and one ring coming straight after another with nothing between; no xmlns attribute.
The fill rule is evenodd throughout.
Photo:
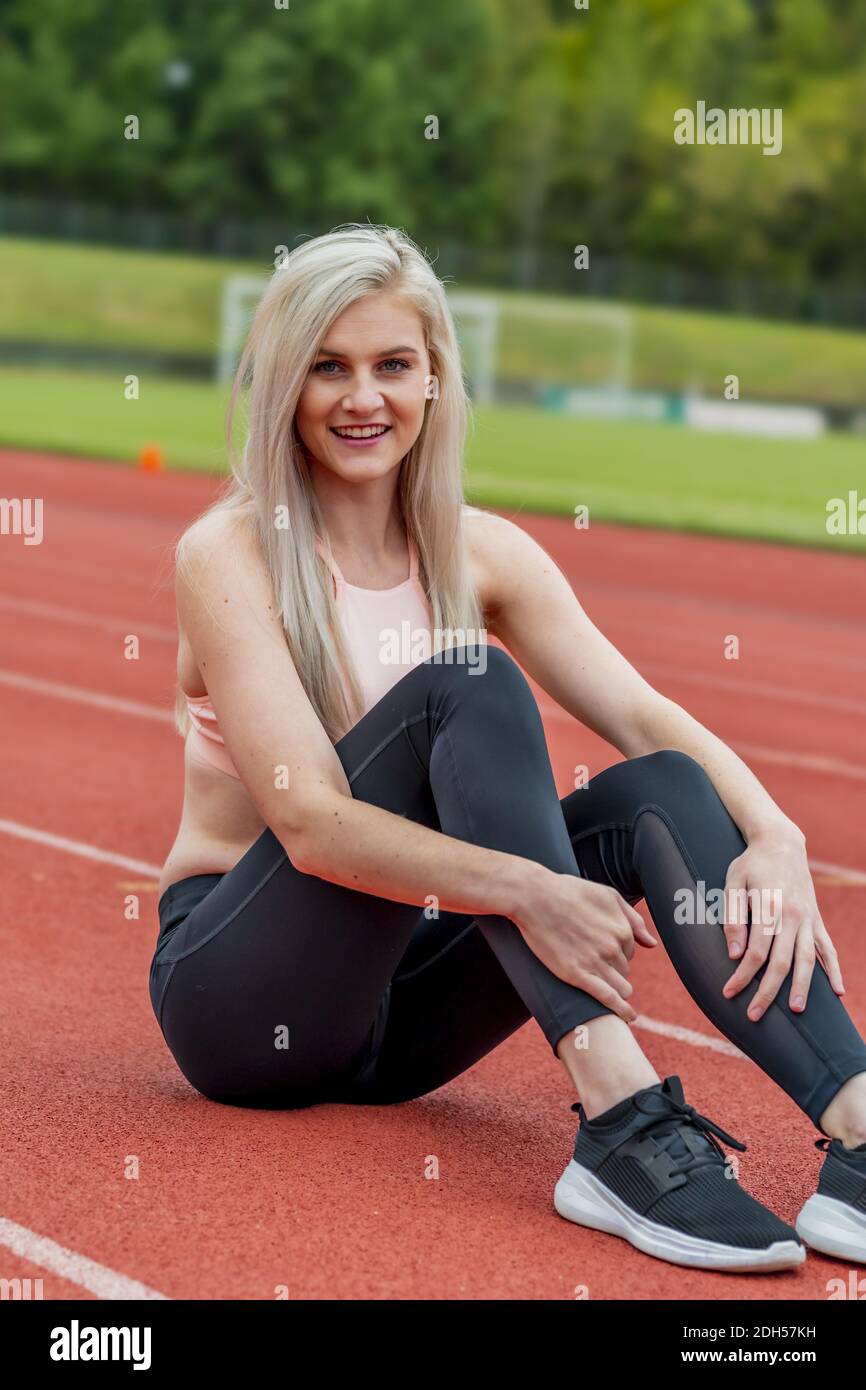
<svg viewBox="0 0 866 1390"><path fill-rule="evenodd" d="M0 371L0 443L133 460L158 443L171 468L225 470L227 391L154 379L125 400L115 377ZM535 410L477 410L467 495L482 506L866 550L828 537L828 498L866 493L853 436L749 439L677 425L582 421Z"/></svg>

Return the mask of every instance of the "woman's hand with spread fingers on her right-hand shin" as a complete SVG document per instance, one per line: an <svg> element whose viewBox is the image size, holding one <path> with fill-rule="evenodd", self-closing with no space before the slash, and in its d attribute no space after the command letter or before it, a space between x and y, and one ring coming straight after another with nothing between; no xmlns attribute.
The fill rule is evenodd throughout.
<svg viewBox="0 0 866 1390"><path fill-rule="evenodd" d="M726 998L745 988L769 959L748 1009L749 1019L758 1022L762 1017L791 965L794 976L788 1005L802 1013L816 958L835 992L845 992L835 947L817 908L806 844L799 831L755 835L745 852L728 866L724 890L728 954L733 959L742 958L721 991ZM752 909L751 926L746 903Z"/></svg>

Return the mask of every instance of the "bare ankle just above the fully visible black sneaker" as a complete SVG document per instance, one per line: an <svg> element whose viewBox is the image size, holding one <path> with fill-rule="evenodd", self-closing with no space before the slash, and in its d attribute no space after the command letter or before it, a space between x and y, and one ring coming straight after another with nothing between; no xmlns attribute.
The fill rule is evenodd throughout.
<svg viewBox="0 0 866 1390"><path fill-rule="evenodd" d="M599 1015L566 1033L556 1054L574 1083L587 1119L595 1119L662 1080L628 1024L614 1013Z"/></svg>

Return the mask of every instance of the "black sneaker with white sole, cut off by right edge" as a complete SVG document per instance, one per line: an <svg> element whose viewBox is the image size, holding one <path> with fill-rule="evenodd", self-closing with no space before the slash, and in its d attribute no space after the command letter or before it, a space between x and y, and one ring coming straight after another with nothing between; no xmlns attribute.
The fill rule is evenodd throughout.
<svg viewBox="0 0 866 1390"><path fill-rule="evenodd" d="M824 1255L866 1264L866 1144L845 1148L841 1138L816 1138L827 1154L817 1191L796 1218L798 1236Z"/></svg>

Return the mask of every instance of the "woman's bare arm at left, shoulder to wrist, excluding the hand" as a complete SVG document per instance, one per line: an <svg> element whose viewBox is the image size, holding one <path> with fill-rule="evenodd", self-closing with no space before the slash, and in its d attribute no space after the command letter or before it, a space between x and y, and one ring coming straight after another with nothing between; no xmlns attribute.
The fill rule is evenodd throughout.
<svg viewBox="0 0 866 1390"><path fill-rule="evenodd" d="M225 521L202 525L178 617L225 746L263 821L303 873L446 912L520 916L544 866L354 801L286 646L264 563ZM279 778L279 766L288 777ZM282 785L288 781L288 787Z"/></svg>

